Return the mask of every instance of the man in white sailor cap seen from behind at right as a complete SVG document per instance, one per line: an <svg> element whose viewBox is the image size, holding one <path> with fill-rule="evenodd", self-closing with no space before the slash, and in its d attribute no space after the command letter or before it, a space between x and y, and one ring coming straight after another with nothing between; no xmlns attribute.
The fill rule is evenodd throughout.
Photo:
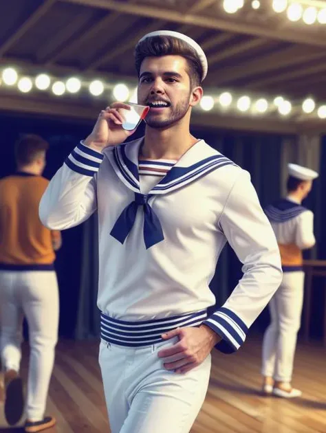
<svg viewBox="0 0 326 433"><path fill-rule="evenodd" d="M314 214L302 206L318 173L296 164L288 165L287 197L268 206L265 213L279 243L283 281L270 301L271 323L263 340L263 391L278 397L300 397L292 388L296 335L303 306L302 250L315 244Z"/></svg>

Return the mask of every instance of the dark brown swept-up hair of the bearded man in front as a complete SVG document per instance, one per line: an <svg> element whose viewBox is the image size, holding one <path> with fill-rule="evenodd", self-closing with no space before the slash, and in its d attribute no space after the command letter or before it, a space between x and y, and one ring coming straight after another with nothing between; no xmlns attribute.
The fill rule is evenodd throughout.
<svg viewBox="0 0 326 433"><path fill-rule="evenodd" d="M202 82L202 63L188 43L171 36L152 36L144 39L135 48L135 68L140 76L140 67L146 57L160 56L182 56L188 63L188 76L191 80L191 87L197 87Z"/></svg>

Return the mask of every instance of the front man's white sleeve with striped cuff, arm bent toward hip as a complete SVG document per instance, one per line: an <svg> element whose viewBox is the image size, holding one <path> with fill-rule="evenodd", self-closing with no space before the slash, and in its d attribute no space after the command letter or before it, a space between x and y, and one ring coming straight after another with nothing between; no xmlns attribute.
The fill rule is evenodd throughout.
<svg viewBox="0 0 326 433"><path fill-rule="evenodd" d="M219 227L243 263L243 277L223 307L203 325L215 331L219 351L232 353L246 340L254 320L281 284L281 257L272 226L265 216L249 173L243 171L233 186Z"/></svg>

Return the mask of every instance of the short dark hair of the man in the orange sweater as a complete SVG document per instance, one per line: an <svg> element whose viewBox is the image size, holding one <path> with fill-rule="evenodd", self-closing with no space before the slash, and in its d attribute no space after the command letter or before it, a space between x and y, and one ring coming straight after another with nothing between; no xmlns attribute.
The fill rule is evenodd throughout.
<svg viewBox="0 0 326 433"><path fill-rule="evenodd" d="M47 151L49 143L39 135L23 135L15 145L16 162L20 166L31 164L40 152Z"/></svg>

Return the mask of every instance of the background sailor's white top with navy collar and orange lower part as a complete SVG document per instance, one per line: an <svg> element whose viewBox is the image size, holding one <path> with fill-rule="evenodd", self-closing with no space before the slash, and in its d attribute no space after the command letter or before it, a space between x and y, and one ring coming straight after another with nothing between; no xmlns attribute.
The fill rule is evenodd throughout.
<svg viewBox="0 0 326 433"><path fill-rule="evenodd" d="M300 271L302 250L316 243L314 214L290 196L268 206L265 212L279 243L283 271Z"/></svg>

